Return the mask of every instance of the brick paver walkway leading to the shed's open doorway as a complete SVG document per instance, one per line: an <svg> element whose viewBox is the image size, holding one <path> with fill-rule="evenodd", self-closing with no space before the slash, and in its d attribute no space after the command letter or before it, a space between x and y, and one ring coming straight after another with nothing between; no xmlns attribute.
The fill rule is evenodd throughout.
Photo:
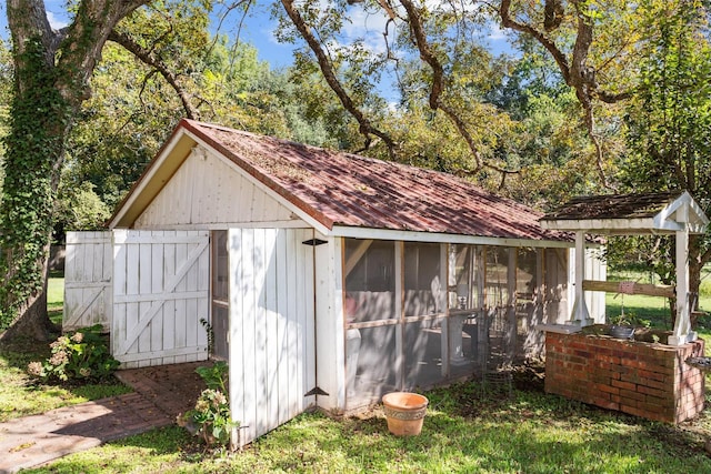
<svg viewBox="0 0 711 474"><path fill-rule="evenodd" d="M0 474L174 423L204 387L194 369L206 364L120 371L136 392L0 423Z"/></svg>

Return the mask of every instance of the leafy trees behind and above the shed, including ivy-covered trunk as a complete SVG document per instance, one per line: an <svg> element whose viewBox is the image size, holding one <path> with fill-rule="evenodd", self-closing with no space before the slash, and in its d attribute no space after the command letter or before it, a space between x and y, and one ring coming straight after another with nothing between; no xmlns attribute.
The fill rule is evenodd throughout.
<svg viewBox="0 0 711 474"><path fill-rule="evenodd" d="M42 333L52 226L100 225L181 117L433 168L541 209L628 190L711 205L707 1L279 0L277 36L298 49L278 71L210 31L213 6L78 0L56 31L41 0L8 0L0 331ZM250 8L264 6L223 11L239 23ZM349 40L365 17L378 43ZM487 40L499 29L503 53ZM711 254L705 239L692 249L697 271Z"/></svg>

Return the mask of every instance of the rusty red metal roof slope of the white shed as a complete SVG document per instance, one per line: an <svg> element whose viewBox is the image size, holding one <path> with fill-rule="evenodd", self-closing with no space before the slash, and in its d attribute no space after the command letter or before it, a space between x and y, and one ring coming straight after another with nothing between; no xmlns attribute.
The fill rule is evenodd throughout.
<svg viewBox="0 0 711 474"><path fill-rule="evenodd" d="M569 240L542 216L451 174L183 120L318 222L489 238Z"/></svg>

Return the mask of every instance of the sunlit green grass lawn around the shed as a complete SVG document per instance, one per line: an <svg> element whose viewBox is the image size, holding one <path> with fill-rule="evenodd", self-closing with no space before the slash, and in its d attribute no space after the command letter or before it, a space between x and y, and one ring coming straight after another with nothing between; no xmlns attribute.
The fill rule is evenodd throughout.
<svg viewBox="0 0 711 474"><path fill-rule="evenodd" d="M608 314L623 303L625 311L649 314L663 327L665 302L655 300L609 295ZM702 334L710 333L704 326ZM82 390L104 390L33 384L23 367L46 354L47 346L23 344L0 349L0 422L92 396ZM711 437L711 416L705 413L680 426L649 422L545 394L539 375L540 370L518 373L510 396L484 394L475 382L427 392L430 407L422 434L415 437L389 434L379 410L344 420L309 413L231 455L207 452L197 437L171 426L27 472L711 472L711 458L703 451Z"/></svg>

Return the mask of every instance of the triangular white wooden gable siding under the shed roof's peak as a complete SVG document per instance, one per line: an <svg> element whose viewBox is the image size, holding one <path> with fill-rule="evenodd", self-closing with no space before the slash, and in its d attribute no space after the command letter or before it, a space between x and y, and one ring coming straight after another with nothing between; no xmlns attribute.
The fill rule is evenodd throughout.
<svg viewBox="0 0 711 474"><path fill-rule="evenodd" d="M279 222L279 225L274 225ZM207 151L193 152L137 219L137 229L206 224L284 226L303 223L242 172ZM260 225L260 223L262 223ZM244 226L239 225L239 226ZM222 226L224 229L224 226Z"/></svg>

